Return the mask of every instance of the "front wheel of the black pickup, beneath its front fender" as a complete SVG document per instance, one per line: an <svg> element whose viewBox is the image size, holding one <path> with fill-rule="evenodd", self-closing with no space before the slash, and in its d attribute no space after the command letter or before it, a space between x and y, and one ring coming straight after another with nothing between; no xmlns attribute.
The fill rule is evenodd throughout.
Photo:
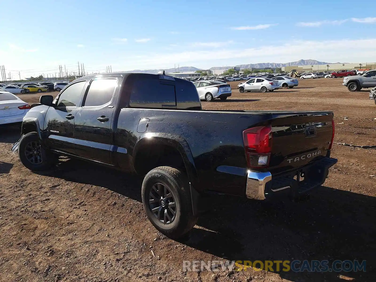
<svg viewBox="0 0 376 282"><path fill-rule="evenodd" d="M47 170L54 161L53 153L41 146L37 132L30 132L21 137L18 145L18 156L22 164L29 170Z"/></svg>

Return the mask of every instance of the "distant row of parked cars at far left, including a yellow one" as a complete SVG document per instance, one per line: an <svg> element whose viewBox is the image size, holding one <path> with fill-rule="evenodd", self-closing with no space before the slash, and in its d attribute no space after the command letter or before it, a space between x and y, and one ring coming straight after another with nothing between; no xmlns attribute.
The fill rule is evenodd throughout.
<svg viewBox="0 0 376 282"><path fill-rule="evenodd" d="M26 94L29 92L60 91L69 82L41 82L41 83L0 83L0 91L7 91L12 94Z"/></svg>

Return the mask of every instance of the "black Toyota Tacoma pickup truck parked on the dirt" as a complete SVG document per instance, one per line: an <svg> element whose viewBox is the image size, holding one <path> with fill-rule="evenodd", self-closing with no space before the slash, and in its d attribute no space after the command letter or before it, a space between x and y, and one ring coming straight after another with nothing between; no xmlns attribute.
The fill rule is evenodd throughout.
<svg viewBox="0 0 376 282"><path fill-rule="evenodd" d="M80 77L24 117L12 151L30 170L57 156L144 176L147 217L177 238L206 193L264 200L324 183L333 112L205 111L192 82L163 74Z"/></svg>

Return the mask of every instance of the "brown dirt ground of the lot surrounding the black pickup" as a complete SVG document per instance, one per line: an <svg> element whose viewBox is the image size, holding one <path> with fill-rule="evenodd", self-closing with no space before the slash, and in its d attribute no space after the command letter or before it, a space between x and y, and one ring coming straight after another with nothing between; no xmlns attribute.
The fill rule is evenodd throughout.
<svg viewBox="0 0 376 282"><path fill-rule="evenodd" d="M331 110L335 142L376 145L369 91L342 79L233 95L204 109ZM55 94L57 94L55 92ZM28 103L37 94L20 95ZM375 281L376 150L334 144L325 186L301 202L208 198L190 238L159 234L141 203L141 179L76 160L32 173L11 153L18 128L0 129L1 281ZM152 252L153 251L153 252ZM367 260L366 272L183 272L184 260Z"/></svg>

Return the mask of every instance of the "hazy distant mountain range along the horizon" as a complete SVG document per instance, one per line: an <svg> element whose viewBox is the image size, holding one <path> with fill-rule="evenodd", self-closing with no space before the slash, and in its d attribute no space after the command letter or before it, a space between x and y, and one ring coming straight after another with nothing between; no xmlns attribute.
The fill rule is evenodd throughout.
<svg viewBox="0 0 376 282"><path fill-rule="evenodd" d="M293 65L330 65L330 64L346 64L346 63L327 63L327 62L319 62L316 60L299 60L296 62L289 62L289 63L259 63L259 64L247 64L247 65L236 65L235 67L240 68L281 68L281 67L290 67ZM227 67L212 67L209 70L228 70L229 68L233 68L230 66ZM198 71L202 70L202 68L195 68L195 67L180 67L180 68L160 68L155 70L132 70L132 71L126 71L126 73L158 73L158 71L164 70L166 73L173 73L175 71Z"/></svg>

